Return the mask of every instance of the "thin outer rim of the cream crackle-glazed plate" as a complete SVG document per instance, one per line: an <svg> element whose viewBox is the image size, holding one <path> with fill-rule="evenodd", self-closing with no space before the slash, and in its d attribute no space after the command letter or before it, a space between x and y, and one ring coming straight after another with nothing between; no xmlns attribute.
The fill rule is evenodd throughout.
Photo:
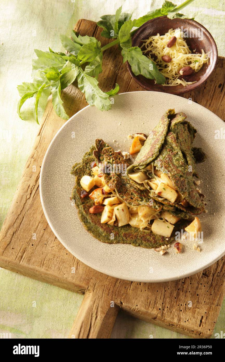
<svg viewBox="0 0 225 362"><path fill-rule="evenodd" d="M145 92L145 93L161 93L161 92L156 92L156 91L148 91L148 90L135 90L134 92L123 92L123 93L119 93L119 94L116 94L116 96L120 96L121 94L128 94L128 93L140 93L140 92ZM162 93L161 93L162 94ZM169 94L169 93L167 93ZM185 97L180 97L180 96L177 96L176 94L170 94L170 96L172 97L179 97L179 98L183 98L184 100L186 100L188 102L188 99L185 98ZM194 102L194 101L192 101ZM213 113L211 110L209 110L208 108L205 108L204 106L194 102L197 106L200 106L200 108L203 108L203 109L207 109L209 112L211 112L213 114L213 116L216 116L217 119L219 120L219 122L221 122L221 125L224 125L224 122L222 121L222 119L220 117L218 117L215 113ZM46 220L53 232L53 234L57 237L57 239L60 241L60 243L66 248L66 250L68 250L75 258L77 258L79 261L81 261L83 264L89 266L90 268L100 272L100 273L103 273L103 274L106 274L106 275L109 275L110 277L113 277L113 278L117 278L117 279L122 279L122 280L126 280L126 281L131 281L129 278L126 278L126 277L122 277L122 276L118 276L118 275L115 275L114 273L105 273L105 271L101 270L101 268L97 268L97 267L93 267L92 265L90 265L90 263L87 263L83 258L78 258L74 252L72 252L71 248L68 247L68 245L65 245L64 241L61 239L61 237L58 235L58 233L54 230L54 227L52 226L52 223L51 223L51 220L49 219L48 217L48 213L46 211L46 207L44 205L44 200L43 200L43 195L42 195L42 174L43 174L43 169L44 169L44 164L45 164L45 161L46 161L46 158L48 156L48 152L53 144L53 142L55 141L55 139L57 138L58 134L61 132L61 130L72 120L72 118L79 114L81 111L83 111L84 109L88 108L88 107L91 107L91 105L87 105L85 106L84 108L82 108L81 110L79 110L77 113L74 113L61 127L60 129L56 132L55 136L53 137L53 139L51 140L51 142L49 143L49 146L47 148L47 151L44 155L44 158L43 158L43 161L42 161L42 166L41 166L41 169L40 169L40 177L39 177L39 195L40 195L40 201L41 201L41 205L42 205L42 209L43 209L43 212L44 212L44 216L46 217ZM94 238L94 236L92 236ZM96 238L94 238L96 239ZM98 240L98 239L96 239ZM99 241L99 240L98 240ZM99 241L101 242L101 241ZM152 250L152 249L151 249ZM196 270L193 271L193 273L185 273L179 277L176 277L176 278L173 278L173 277L168 277L168 278L163 278L163 279L157 279L157 280L152 280L152 279L145 279L145 278L142 278L142 279L138 279L138 278L132 278L132 281L133 282L143 282L143 283L162 283L162 282L170 282L170 281L175 281L175 280L179 280L179 279L182 279L182 278L186 278L186 277L190 277L191 275L194 275L194 274L197 274L199 273L200 271L208 268L209 266L211 266L212 264L216 263L218 260L220 260L223 256L225 255L225 250L223 253L221 253L219 256L217 256L215 259L213 259L213 261L209 262L208 264L206 264L203 268L200 267Z"/></svg>

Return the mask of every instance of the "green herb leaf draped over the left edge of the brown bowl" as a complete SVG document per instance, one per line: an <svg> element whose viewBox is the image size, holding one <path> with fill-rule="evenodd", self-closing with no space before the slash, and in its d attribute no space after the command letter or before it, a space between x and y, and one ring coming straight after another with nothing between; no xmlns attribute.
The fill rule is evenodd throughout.
<svg viewBox="0 0 225 362"><path fill-rule="evenodd" d="M139 47L136 46L128 49L126 57L134 75L142 74L148 79L155 78L157 84L165 83L166 79L160 73L155 63L147 58L147 56L143 55Z"/></svg>

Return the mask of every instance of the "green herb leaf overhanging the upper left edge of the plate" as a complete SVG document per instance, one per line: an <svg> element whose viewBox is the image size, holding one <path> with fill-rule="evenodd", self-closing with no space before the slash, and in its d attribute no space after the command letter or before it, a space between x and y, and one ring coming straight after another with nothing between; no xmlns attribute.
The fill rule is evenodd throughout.
<svg viewBox="0 0 225 362"><path fill-rule="evenodd" d="M78 75L78 87L81 92L85 93L86 101L90 105L95 105L98 109L111 109L111 102L108 99L108 94L104 93L98 87L98 81L89 75L80 72Z"/></svg>

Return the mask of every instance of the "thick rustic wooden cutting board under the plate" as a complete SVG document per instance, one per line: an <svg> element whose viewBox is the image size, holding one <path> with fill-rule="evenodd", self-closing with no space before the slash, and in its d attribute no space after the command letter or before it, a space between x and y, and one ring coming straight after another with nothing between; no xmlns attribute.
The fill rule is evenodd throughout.
<svg viewBox="0 0 225 362"><path fill-rule="evenodd" d="M102 45L107 43L95 22L81 19L75 30L98 38ZM208 81L184 97L191 97L223 118L224 79L225 58L219 57ZM120 84L120 93L143 90L129 75L126 64L122 64L118 47L104 52L103 72L99 76L104 91L115 83ZM70 116L87 105L76 85L63 91L63 99ZM57 240L42 211L39 174L47 147L64 122L56 116L49 100L0 233L0 266L85 294L70 338L109 338L120 308L139 319L191 337L210 337L224 298L225 257L191 277L166 283L137 283L89 268Z"/></svg>

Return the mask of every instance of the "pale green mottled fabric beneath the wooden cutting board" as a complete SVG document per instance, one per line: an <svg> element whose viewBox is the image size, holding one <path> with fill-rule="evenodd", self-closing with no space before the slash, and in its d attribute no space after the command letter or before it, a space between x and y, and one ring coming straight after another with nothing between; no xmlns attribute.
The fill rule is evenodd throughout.
<svg viewBox="0 0 225 362"><path fill-rule="evenodd" d="M175 1L180 4L182 1ZM33 101L23 106L27 121L17 113L16 86L31 81L34 49L60 50L59 34L70 34L79 18L97 21L99 16L123 10L133 18L159 8L163 0L1 0L0 4L0 227L9 209L39 126ZM150 5L151 4L151 5ZM182 12L195 14L213 35L219 55L225 56L225 2L195 0ZM42 100L41 117L46 98ZM0 268L0 333L12 338L66 338L82 302L82 296ZM224 328L223 303L215 331ZM187 338L182 334L127 317L120 312L112 338Z"/></svg>

